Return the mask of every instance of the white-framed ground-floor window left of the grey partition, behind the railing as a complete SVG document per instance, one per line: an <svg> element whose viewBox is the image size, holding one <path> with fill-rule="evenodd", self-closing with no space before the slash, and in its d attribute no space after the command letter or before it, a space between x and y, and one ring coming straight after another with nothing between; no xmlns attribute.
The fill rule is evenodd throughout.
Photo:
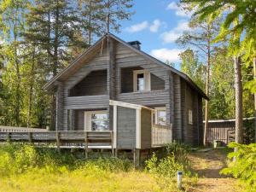
<svg viewBox="0 0 256 192"><path fill-rule="evenodd" d="M84 129L87 131L108 131L108 112L90 111L84 113Z"/></svg>

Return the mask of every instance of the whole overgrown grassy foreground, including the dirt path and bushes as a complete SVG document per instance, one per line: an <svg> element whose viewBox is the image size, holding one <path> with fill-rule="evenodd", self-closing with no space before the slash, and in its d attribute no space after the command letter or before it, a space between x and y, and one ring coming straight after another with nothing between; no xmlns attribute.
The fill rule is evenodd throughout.
<svg viewBox="0 0 256 192"><path fill-rule="evenodd" d="M238 147L229 156L239 158L228 163L228 151L189 152L174 143L134 169L131 160L85 160L69 151L7 143L0 146L0 192L175 192L178 170L183 171L182 191L254 192L256 145Z"/></svg>

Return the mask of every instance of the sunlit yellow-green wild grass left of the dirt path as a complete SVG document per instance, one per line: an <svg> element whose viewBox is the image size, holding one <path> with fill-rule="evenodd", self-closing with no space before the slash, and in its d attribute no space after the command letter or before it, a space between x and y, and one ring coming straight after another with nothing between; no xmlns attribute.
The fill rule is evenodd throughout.
<svg viewBox="0 0 256 192"><path fill-rule="evenodd" d="M170 160L162 160L154 168L160 172L161 167L172 165ZM169 168L171 172L175 167ZM135 170L129 160L79 160L69 153L57 154L54 149L18 144L0 147L1 192L178 191L175 176L158 172ZM189 191L196 182L197 177L184 177L183 187Z"/></svg>

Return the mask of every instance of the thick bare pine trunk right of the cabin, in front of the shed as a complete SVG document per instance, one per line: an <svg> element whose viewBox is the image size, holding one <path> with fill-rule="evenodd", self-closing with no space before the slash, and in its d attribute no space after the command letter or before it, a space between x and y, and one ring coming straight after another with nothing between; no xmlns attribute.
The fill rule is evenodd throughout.
<svg viewBox="0 0 256 192"><path fill-rule="evenodd" d="M236 143L243 143L241 57L234 58L236 88Z"/></svg>

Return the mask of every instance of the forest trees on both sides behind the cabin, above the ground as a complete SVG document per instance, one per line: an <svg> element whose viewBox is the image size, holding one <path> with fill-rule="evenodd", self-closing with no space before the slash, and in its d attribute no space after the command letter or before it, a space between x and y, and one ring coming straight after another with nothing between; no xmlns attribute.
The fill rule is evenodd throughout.
<svg viewBox="0 0 256 192"><path fill-rule="evenodd" d="M179 6L196 11L203 2L183 0ZM0 6L0 125L49 125L51 129L55 126L55 96L43 90L44 84L100 38L106 28L120 32L121 21L135 14L131 0L2 0ZM198 9L210 14L193 15L191 30L177 39L177 45L185 49L179 55L181 63L166 61L206 90L210 97L204 105L207 119L236 116L234 55L241 55L242 116L254 115L255 19L251 26L246 19L238 20L238 26L232 24L237 15L249 15L242 9L253 3L238 6L241 10L229 18L223 16L224 9ZM232 38L235 29L238 40Z"/></svg>

